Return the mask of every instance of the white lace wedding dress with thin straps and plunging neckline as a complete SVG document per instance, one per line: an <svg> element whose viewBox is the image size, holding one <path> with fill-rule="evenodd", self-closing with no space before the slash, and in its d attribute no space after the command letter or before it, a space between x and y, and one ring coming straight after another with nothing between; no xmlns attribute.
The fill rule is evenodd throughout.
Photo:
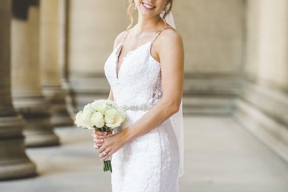
<svg viewBox="0 0 288 192"><path fill-rule="evenodd" d="M161 31L164 29L168 28ZM150 47L157 35L152 41L128 52L117 77L117 61L125 37L104 65L114 101L119 106L152 106L162 98L161 66L150 54ZM128 118L117 132L147 112L126 110ZM111 164L113 192L179 191L179 147L171 120L168 118L155 129L126 143L112 155Z"/></svg>

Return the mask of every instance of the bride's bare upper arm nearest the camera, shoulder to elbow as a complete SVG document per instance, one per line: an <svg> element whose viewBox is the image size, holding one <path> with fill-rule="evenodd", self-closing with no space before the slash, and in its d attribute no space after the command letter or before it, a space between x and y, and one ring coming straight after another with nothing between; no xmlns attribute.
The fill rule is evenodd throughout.
<svg viewBox="0 0 288 192"><path fill-rule="evenodd" d="M166 29L161 33L156 51L161 61L162 99L172 102L179 109L184 84L183 41L173 29Z"/></svg>

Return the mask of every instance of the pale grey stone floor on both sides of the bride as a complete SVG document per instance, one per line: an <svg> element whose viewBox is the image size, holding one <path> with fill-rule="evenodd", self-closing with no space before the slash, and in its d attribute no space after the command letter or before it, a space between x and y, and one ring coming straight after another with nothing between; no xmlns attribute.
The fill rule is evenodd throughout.
<svg viewBox="0 0 288 192"><path fill-rule="evenodd" d="M181 192L288 192L288 165L229 117L184 116ZM31 148L38 176L0 182L1 192L111 191L91 130L56 128L61 146Z"/></svg>

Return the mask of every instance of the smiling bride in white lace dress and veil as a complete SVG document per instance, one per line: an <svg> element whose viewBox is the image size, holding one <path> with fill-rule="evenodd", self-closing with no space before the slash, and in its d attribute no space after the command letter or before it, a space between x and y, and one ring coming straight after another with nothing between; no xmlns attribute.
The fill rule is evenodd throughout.
<svg viewBox="0 0 288 192"><path fill-rule="evenodd" d="M127 118L113 133L94 130L94 148L101 161L111 158L113 192L179 191L184 48L171 13L173 0L129 3L131 24L117 36L104 65L108 99ZM138 23L130 29L136 9Z"/></svg>

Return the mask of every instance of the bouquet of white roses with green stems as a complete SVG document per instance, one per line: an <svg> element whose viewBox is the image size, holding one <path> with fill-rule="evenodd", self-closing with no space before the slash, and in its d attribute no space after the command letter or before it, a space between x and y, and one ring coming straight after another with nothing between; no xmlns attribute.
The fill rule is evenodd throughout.
<svg viewBox="0 0 288 192"><path fill-rule="evenodd" d="M84 129L108 132L117 129L125 117L127 117L125 111L114 101L98 99L85 105L84 109L76 114L75 124ZM110 157L103 161L104 172L109 170L112 173Z"/></svg>

